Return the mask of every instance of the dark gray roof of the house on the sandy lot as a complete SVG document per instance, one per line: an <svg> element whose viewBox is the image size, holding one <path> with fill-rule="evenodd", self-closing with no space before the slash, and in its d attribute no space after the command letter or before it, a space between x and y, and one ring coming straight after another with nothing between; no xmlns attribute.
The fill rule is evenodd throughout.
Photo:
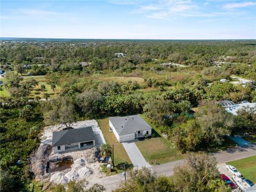
<svg viewBox="0 0 256 192"><path fill-rule="evenodd" d="M91 126L52 133L52 147L92 140L95 138Z"/></svg>

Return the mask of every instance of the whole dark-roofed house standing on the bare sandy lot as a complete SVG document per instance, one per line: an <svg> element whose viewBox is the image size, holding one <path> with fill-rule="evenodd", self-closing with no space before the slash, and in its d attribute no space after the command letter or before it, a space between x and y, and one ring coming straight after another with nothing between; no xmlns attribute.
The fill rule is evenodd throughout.
<svg viewBox="0 0 256 192"><path fill-rule="evenodd" d="M95 137L91 126L52 133L53 153L63 153L94 146Z"/></svg>

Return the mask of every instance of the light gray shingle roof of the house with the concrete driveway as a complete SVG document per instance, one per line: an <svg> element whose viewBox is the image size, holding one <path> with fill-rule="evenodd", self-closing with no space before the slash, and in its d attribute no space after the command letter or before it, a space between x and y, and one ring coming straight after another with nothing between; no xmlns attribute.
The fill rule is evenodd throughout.
<svg viewBox="0 0 256 192"><path fill-rule="evenodd" d="M109 121L115 127L115 130L119 135L152 129L152 127L139 115L109 117Z"/></svg>

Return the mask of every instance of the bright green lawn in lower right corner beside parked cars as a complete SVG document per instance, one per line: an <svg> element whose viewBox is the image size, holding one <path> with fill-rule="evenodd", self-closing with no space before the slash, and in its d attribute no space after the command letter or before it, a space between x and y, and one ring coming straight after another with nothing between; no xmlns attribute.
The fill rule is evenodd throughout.
<svg viewBox="0 0 256 192"><path fill-rule="evenodd" d="M231 161L227 164L233 165L246 179L250 179L253 183L256 183L256 155Z"/></svg>

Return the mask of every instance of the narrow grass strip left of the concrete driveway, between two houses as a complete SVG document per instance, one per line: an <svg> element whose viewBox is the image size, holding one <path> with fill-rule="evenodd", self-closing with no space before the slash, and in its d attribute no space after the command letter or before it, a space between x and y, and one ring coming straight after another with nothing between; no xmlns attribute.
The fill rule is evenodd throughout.
<svg viewBox="0 0 256 192"><path fill-rule="evenodd" d="M113 132L109 131L109 121L108 118L105 119L99 119L98 124L100 126L100 129L104 135L104 138L109 145L114 144L114 163L115 166L119 163L131 163L131 160L129 156L127 155L122 143L119 143L116 139L116 136Z"/></svg>

